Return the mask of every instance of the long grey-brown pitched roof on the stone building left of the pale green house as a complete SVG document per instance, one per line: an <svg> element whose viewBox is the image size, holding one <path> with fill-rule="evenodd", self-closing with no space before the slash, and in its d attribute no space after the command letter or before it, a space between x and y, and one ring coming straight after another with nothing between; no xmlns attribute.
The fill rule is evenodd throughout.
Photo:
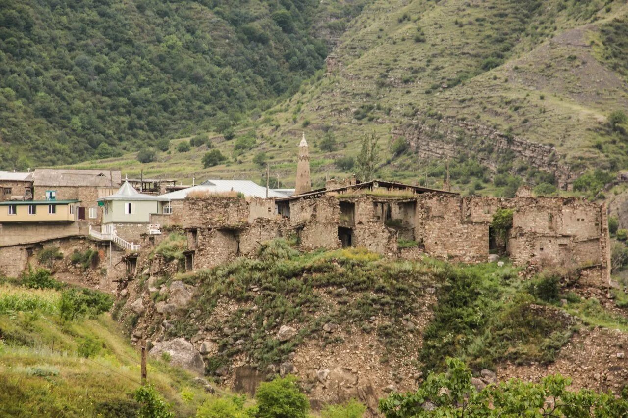
<svg viewBox="0 0 628 418"><path fill-rule="evenodd" d="M33 186L112 187L122 182L120 170L36 168Z"/></svg>

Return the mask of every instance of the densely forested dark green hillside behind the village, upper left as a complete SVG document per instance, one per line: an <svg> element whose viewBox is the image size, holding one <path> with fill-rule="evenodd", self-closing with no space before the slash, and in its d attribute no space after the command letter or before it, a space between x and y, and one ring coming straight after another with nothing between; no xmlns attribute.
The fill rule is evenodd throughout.
<svg viewBox="0 0 628 418"><path fill-rule="evenodd" d="M361 3L1 0L0 165L225 131L322 68Z"/></svg>

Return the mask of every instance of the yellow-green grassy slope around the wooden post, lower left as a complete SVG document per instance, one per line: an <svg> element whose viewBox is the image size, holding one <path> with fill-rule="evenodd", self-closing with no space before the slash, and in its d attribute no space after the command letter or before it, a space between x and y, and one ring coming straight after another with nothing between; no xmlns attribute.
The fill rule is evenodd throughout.
<svg viewBox="0 0 628 418"><path fill-rule="evenodd" d="M138 351L121 326L92 305L62 325L63 291L0 284L0 415L136 416ZM177 416L192 415L202 402L214 400L192 375L160 360L149 360L148 382Z"/></svg>

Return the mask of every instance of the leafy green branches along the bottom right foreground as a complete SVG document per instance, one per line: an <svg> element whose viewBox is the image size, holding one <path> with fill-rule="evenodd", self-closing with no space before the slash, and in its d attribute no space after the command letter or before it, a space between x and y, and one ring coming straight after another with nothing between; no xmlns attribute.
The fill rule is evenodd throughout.
<svg viewBox="0 0 628 418"><path fill-rule="evenodd" d="M588 389L570 392L569 378L551 375L541 383L512 379L488 385L480 392L461 360L447 359L445 373L432 373L414 393L389 395L379 402L386 418L409 417L622 417L628 391L615 398ZM445 390L443 390L445 388ZM430 408L428 408L428 405ZM428 410L430 409L430 410Z"/></svg>

